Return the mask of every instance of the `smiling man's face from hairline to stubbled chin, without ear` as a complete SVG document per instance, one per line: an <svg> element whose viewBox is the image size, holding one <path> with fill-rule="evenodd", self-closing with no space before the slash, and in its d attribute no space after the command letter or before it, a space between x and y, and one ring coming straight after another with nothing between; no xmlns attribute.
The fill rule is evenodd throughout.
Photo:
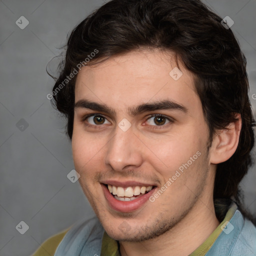
<svg viewBox="0 0 256 256"><path fill-rule="evenodd" d="M140 50L77 75L74 165L116 240L158 236L212 199L201 102L188 70L179 63L183 74L170 73L176 66L167 52Z"/></svg>

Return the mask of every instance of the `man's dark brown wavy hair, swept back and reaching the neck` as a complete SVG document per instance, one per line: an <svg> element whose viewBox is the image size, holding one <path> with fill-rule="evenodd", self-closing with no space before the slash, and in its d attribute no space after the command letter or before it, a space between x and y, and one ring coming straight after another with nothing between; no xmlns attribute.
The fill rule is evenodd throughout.
<svg viewBox="0 0 256 256"><path fill-rule="evenodd" d="M248 98L246 59L231 29L200 0L111 0L82 20L71 32L60 75L53 91L76 65L95 49L92 61L104 61L139 47L174 51L195 75L212 141L218 129L241 114L242 127L235 153L217 164L214 199L232 198L241 204L238 184L251 165L254 120ZM72 137L75 78L53 96L67 118ZM245 214L246 212L244 212Z"/></svg>

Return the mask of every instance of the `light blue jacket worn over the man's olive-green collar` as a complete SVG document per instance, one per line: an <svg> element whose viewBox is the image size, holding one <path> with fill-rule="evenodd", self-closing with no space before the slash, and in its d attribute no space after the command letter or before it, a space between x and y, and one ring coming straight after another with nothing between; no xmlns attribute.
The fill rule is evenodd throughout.
<svg viewBox="0 0 256 256"><path fill-rule="evenodd" d="M230 220L224 220L217 227L222 229L220 234L204 255L256 256L256 227L252 222L244 219L237 206ZM117 255L101 251L103 233L96 217L80 221L65 234L54 256Z"/></svg>

